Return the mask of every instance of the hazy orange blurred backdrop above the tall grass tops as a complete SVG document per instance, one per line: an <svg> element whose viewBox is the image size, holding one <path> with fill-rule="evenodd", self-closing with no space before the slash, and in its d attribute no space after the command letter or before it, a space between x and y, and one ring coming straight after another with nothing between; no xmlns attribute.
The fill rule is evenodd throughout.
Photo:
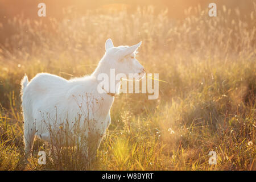
<svg viewBox="0 0 256 182"><path fill-rule="evenodd" d="M122 10L124 7L132 13L136 10L137 6L148 6L154 5L157 11L168 8L168 16L172 18L184 18L184 10L188 7L194 7L201 5L208 7L209 3L216 3L218 7L222 5L227 6L230 9L240 8L242 14L246 12L251 12L253 10L254 0L63 0L63 1L51 1L51 0L1 0L0 1L0 16L2 18L13 17L17 14L23 14L26 18L38 18L36 13L38 11L37 6L40 2L43 2L47 6L47 16L48 18L61 18L63 14L63 8L73 7L81 14L86 14L86 10L93 9L116 9ZM156 11L156 12L157 12Z"/></svg>

